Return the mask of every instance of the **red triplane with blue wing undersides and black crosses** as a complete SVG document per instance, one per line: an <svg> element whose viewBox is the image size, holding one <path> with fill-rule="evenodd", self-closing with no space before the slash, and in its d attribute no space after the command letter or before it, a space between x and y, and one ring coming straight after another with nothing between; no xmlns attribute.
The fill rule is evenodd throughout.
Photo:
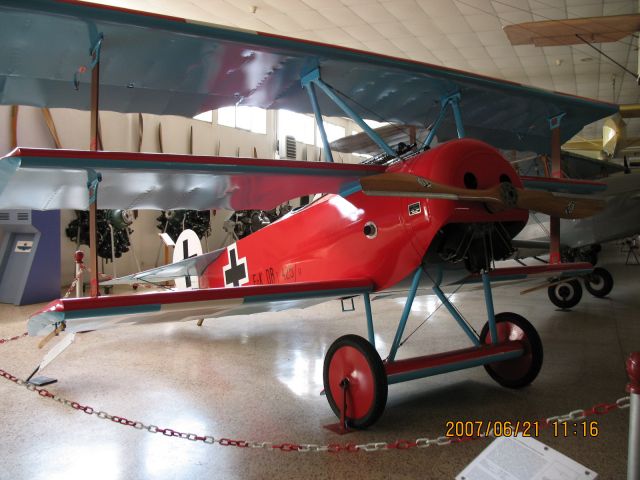
<svg viewBox="0 0 640 480"><path fill-rule="evenodd" d="M495 269L494 261L512 253L511 239L525 225L528 210L563 218L591 215L602 205L571 192L597 190L599 185L520 178L489 143L538 152L553 147L557 154L562 139L615 107L433 65L79 2L24 6L8 1L0 9L0 39L8 42L9 50L19 48L21 41L36 41L44 20L48 34L60 33L64 45L74 50L75 42L68 37L90 25L94 73L101 62L105 70L111 66L100 77L94 75L91 85L96 98L99 88L107 92L107 109L194 114L205 106L250 104L312 111L320 120L330 160L322 106L323 113L350 116L384 152L375 162L347 165L16 149L0 162L5 174L0 182L2 208L95 211L97 202L102 208L271 209L291 198L323 194L224 249L111 282L157 283L189 276L197 277L198 288L56 300L29 320L31 335L284 310L363 295L368 340L356 335L337 339L324 364L325 392L342 425L364 428L374 423L393 383L479 365L507 387L534 380L542 365L540 338L520 315L494 314L491 281L531 274L575 276L588 272L591 265ZM34 27L17 40L5 39L2 27L9 25L2 22L18 19L29 19ZM87 42L87 31L83 33L78 44ZM51 36L55 52L58 37ZM136 48L123 46L119 40L125 36ZM167 58L155 59L153 71L144 71L143 65L140 71L122 74L105 62L113 55L118 65L137 65L144 51L137 46L155 45L151 40L171 45ZM77 60L73 52L64 52L59 69ZM165 63L172 72L169 80L163 76ZM86 106L59 88L45 68L14 67L12 78L35 77L39 82L25 81L3 102L34 93L30 89L37 84L41 94L33 98L38 104ZM175 90L171 81L177 82ZM320 102L316 89L331 102ZM167 92L175 94L175 102L167 101ZM434 100L436 115L431 119ZM363 104L369 107L363 109ZM433 125L424 141L394 149L362 120L369 108L396 122ZM97 100L92 110L96 115ZM453 115L447 115L449 111ZM441 142L449 141L430 148L436 134ZM465 138L467 134L484 141ZM445 283L474 281L483 284L488 319L479 336L441 290ZM420 284L427 283L471 346L397 360L412 302ZM403 285L408 288L407 301L383 361L374 344L370 294L392 287L397 292ZM93 290L97 291L97 279Z"/></svg>

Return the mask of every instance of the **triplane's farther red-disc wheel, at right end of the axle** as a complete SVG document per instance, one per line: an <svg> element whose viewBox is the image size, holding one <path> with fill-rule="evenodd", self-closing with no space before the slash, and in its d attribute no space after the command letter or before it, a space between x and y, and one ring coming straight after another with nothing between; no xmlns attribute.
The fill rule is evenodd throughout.
<svg viewBox="0 0 640 480"><path fill-rule="evenodd" d="M519 340L524 346L524 354L518 358L489 363L485 370L503 387L522 388L538 376L542 368L542 341L536 329L520 315L503 312L496 315L498 341ZM480 333L480 343L490 344L489 323Z"/></svg>

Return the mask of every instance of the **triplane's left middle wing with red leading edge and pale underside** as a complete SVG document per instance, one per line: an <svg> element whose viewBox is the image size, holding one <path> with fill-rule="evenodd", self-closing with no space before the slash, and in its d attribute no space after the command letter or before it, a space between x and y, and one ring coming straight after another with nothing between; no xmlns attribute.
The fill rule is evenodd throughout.
<svg viewBox="0 0 640 480"><path fill-rule="evenodd" d="M88 173L102 175L100 208L270 210L292 198L344 193L376 165L128 152L15 149L0 159L0 208L87 209Z"/></svg>

